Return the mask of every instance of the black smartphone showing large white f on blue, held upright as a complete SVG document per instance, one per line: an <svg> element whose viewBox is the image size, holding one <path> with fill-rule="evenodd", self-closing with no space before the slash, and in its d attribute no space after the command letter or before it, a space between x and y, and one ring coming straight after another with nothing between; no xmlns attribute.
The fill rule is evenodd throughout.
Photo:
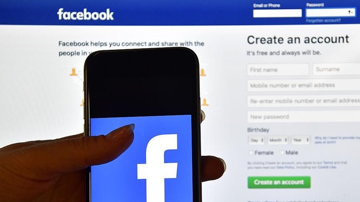
<svg viewBox="0 0 360 202"><path fill-rule="evenodd" d="M106 50L86 58L85 135L135 124L127 151L87 169L86 201L201 201L199 75L188 48Z"/></svg>

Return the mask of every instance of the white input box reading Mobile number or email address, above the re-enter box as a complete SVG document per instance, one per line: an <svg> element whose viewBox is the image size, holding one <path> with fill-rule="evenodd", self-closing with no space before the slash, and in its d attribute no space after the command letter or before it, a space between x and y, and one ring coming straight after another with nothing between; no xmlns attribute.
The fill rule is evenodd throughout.
<svg viewBox="0 0 360 202"><path fill-rule="evenodd" d="M256 79L247 80L249 92L360 91L360 79Z"/></svg>

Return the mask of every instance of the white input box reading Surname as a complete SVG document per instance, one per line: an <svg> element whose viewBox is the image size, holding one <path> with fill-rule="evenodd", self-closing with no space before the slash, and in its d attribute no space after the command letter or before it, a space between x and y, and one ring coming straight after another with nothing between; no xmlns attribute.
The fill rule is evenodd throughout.
<svg viewBox="0 0 360 202"><path fill-rule="evenodd" d="M315 63L314 75L360 75L360 63Z"/></svg>

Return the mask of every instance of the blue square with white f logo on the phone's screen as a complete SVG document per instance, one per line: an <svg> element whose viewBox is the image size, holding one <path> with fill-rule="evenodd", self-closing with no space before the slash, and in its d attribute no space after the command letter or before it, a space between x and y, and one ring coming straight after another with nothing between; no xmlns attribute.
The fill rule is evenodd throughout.
<svg viewBox="0 0 360 202"><path fill-rule="evenodd" d="M191 116L92 118L91 134L131 123L130 148L92 167L92 201L192 201Z"/></svg>

